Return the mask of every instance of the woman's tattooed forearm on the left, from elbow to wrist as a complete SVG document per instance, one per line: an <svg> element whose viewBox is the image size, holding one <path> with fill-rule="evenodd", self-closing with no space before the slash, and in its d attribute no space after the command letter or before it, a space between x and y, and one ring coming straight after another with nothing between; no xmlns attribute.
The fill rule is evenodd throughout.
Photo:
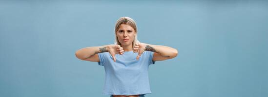
<svg viewBox="0 0 268 97"><path fill-rule="evenodd" d="M108 51L108 45L99 46L99 47L87 47L87 48L82 48L82 49L77 50L75 55L79 59L86 59L97 53L102 53L102 52L107 52L107 51Z"/></svg>

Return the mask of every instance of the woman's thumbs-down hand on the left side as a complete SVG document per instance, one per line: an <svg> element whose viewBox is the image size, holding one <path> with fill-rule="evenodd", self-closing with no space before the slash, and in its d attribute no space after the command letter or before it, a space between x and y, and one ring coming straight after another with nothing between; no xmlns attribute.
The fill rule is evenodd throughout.
<svg viewBox="0 0 268 97"><path fill-rule="evenodd" d="M112 55L114 62L116 62L115 54L123 54L124 49L120 45L108 45L108 52Z"/></svg>

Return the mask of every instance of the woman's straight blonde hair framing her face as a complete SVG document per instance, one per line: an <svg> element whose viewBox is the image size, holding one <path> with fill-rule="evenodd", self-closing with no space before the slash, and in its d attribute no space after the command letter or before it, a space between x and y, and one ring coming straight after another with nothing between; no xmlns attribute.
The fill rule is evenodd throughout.
<svg viewBox="0 0 268 97"><path fill-rule="evenodd" d="M135 36L134 36L134 40L132 42L132 48L134 48L135 44L136 43L139 43L140 41L137 39L137 34L138 34L138 30L137 30L137 26L136 26L136 22L130 18L130 17L120 17L116 24L115 24L115 29L114 29L114 32L115 32L115 41L114 41L114 44L117 44L117 45L120 45L121 46L121 43L119 42L118 40L118 37L116 36L116 32L118 31L119 27L121 24L127 24L129 25L130 27L132 27L134 30L135 30Z"/></svg>

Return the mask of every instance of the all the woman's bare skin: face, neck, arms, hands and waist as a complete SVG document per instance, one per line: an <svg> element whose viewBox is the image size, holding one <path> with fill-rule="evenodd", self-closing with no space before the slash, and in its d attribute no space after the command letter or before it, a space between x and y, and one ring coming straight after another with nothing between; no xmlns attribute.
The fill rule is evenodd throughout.
<svg viewBox="0 0 268 97"><path fill-rule="evenodd" d="M91 62L100 62L98 57L98 53L102 52L109 52L114 62L116 62L115 55L116 54L124 54L124 51L131 51L138 53L136 57L139 60L140 56L144 51L152 51L154 52L153 61L163 61L167 59L171 59L177 56L178 50L161 45L151 45L146 43L137 43L135 44L134 48L132 48L132 42L134 41L134 36L137 32L127 25L121 24L119 30L116 32L116 36L121 43L120 45L104 45L100 47L87 47L83 49L79 49L76 51L75 55L77 58L85 61ZM128 41L124 41L123 39L129 39ZM131 95L131 96L124 96L124 95L114 95L113 97L139 97L139 95Z"/></svg>

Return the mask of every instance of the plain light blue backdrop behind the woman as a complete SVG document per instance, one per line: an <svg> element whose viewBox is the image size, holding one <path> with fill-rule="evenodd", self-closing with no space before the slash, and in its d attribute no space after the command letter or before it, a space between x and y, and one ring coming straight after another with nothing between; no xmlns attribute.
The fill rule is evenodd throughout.
<svg viewBox="0 0 268 97"><path fill-rule="evenodd" d="M0 97L109 97L104 67L76 58L114 43L121 16L141 42L178 49L149 67L145 97L268 97L268 1L0 0Z"/></svg>

